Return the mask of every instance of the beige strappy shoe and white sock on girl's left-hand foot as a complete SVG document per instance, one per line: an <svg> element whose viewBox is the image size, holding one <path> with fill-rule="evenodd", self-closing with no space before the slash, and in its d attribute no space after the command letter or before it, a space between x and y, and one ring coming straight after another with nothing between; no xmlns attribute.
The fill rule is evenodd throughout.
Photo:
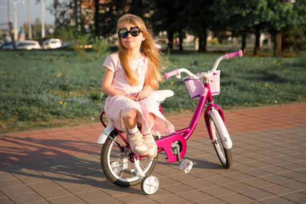
<svg viewBox="0 0 306 204"><path fill-rule="evenodd" d="M144 143L144 139L142 138L142 134L140 131L134 134L127 134L127 142L129 142L131 150L137 155L147 155L148 149Z"/></svg>

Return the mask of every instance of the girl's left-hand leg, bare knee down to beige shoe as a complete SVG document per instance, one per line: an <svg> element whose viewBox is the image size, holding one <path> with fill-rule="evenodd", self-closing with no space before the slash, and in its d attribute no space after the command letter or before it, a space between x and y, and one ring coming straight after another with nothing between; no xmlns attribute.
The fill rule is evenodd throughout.
<svg viewBox="0 0 306 204"><path fill-rule="evenodd" d="M142 138L143 135L137 128L137 113L133 110L128 112L122 117L122 120L127 127L127 142L129 142L132 151L137 155L147 155L148 149L145 145L145 141Z"/></svg>

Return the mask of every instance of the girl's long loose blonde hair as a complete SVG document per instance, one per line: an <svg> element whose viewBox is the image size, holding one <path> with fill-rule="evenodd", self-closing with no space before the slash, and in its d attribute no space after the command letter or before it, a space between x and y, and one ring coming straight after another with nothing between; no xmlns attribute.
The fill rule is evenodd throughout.
<svg viewBox="0 0 306 204"><path fill-rule="evenodd" d="M160 71L165 69L166 67L164 66L165 62L161 58L161 53L159 49L155 46L155 41L151 32L146 29L144 21L140 17L133 14L125 14L118 19L117 33L119 32L119 25L122 22L137 25L140 31L142 32L142 35L145 38L145 40L142 41L141 43L140 52L143 52L145 56L148 58L149 72L147 73L148 74L147 84L150 85L152 89L157 89L159 82L163 81L163 77ZM119 39L118 41L119 41L119 60L124 68L127 81L133 86L137 85L138 80L136 76L133 74L134 72L129 64L130 60L129 49L123 46L121 39Z"/></svg>

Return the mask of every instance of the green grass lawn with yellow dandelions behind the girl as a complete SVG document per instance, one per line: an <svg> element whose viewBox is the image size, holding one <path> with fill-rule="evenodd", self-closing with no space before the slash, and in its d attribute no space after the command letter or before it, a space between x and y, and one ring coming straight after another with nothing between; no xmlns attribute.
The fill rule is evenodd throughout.
<svg viewBox="0 0 306 204"><path fill-rule="evenodd" d="M93 52L81 59L74 52L58 50L0 52L0 133L98 122L107 97L100 87L108 54L93 60ZM207 71L219 56L174 53L167 71L183 67L194 73ZM305 55L223 60L218 67L221 93L214 101L223 109L305 101L305 64ZM190 98L183 80L170 78L160 89L175 93L163 103L166 116L194 110L197 100Z"/></svg>

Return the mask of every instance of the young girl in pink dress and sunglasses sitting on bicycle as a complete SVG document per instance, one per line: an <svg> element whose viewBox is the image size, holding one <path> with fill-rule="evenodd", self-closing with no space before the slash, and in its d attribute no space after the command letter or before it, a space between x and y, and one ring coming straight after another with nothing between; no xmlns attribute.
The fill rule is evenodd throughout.
<svg viewBox="0 0 306 204"><path fill-rule="evenodd" d="M140 17L123 15L118 19L117 32L119 52L108 56L103 64L106 72L102 90L109 95L104 110L116 129L127 129L132 151L152 159L157 155L157 145L151 130L162 136L174 132L174 126L150 97L162 81L161 56Z"/></svg>

